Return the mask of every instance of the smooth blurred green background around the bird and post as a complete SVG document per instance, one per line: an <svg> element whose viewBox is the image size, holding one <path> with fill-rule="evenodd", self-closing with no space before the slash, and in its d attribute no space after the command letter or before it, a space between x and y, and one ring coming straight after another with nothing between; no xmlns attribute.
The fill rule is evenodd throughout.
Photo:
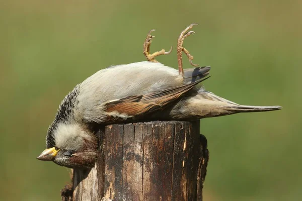
<svg viewBox="0 0 302 201"><path fill-rule="evenodd" d="M0 200L59 200L70 170L36 157L60 101L99 69L145 60L150 29L152 51L169 50L191 23L185 47L212 66L206 89L283 106L201 121L205 200L302 200L301 1L0 2ZM177 67L175 50L157 59Z"/></svg>

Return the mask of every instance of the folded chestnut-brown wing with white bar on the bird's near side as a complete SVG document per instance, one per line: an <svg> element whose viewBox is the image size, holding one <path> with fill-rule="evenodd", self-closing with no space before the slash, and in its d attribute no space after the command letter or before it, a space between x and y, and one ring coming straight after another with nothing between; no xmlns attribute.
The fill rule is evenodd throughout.
<svg viewBox="0 0 302 201"><path fill-rule="evenodd" d="M209 77L159 92L147 93L145 95L132 95L113 100L105 104L105 112L107 112L111 120L112 117L116 119L139 119L141 116L164 109L207 78Z"/></svg>

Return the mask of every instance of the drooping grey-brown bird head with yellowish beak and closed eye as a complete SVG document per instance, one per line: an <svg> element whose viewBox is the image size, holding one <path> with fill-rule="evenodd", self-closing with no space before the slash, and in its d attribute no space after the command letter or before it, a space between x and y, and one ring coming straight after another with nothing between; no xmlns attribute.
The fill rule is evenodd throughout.
<svg viewBox="0 0 302 201"><path fill-rule="evenodd" d="M98 155L97 137L77 123L58 123L50 128L46 145L47 149L37 159L69 168L91 168Z"/></svg>

